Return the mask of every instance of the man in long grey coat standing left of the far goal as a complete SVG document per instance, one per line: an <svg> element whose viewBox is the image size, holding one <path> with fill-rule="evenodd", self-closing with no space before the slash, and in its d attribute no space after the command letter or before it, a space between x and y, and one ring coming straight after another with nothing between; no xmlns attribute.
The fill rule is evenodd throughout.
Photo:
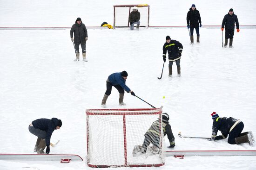
<svg viewBox="0 0 256 170"><path fill-rule="evenodd" d="M74 38L73 38L74 32ZM70 30L70 38L71 41L74 43L75 54L76 58L74 61L79 61L79 45L81 44L82 53L83 53L83 61L87 62L86 59L86 41L88 40L88 34L86 26L82 23L81 18L77 18L75 20L75 24L72 25Z"/></svg>

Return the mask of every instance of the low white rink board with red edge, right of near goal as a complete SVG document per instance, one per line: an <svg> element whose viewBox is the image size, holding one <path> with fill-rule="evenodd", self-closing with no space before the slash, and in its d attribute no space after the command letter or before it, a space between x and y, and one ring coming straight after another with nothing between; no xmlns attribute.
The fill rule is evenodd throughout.
<svg viewBox="0 0 256 170"><path fill-rule="evenodd" d="M231 151L165 151L170 156L256 156L256 150L231 150Z"/></svg>

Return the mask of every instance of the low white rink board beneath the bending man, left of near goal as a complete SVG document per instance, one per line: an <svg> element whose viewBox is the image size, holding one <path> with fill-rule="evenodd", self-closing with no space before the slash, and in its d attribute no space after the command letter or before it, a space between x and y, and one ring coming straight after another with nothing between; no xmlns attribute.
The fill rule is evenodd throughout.
<svg viewBox="0 0 256 170"><path fill-rule="evenodd" d="M0 160L8 161L61 161L62 159L69 159L70 161L83 161L79 155L0 153Z"/></svg>

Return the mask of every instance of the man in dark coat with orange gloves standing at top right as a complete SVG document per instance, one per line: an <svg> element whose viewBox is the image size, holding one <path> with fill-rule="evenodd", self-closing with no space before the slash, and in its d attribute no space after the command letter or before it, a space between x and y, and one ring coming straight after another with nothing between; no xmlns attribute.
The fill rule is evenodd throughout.
<svg viewBox="0 0 256 170"><path fill-rule="evenodd" d="M226 14L222 20L222 31L224 30L225 25L225 44L226 48L229 40L229 48L233 48L233 38L235 31L235 23L236 23L236 32L239 32L239 22L237 16L235 15L233 9L229 9L229 13Z"/></svg>

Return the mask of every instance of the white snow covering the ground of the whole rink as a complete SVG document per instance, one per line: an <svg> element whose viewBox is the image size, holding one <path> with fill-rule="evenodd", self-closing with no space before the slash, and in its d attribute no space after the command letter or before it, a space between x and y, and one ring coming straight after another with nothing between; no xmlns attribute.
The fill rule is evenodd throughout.
<svg viewBox="0 0 256 170"><path fill-rule="evenodd" d="M0 26L71 26L81 17L86 26L112 24L113 5L149 4L150 25L186 25L186 14L195 4L202 25L221 25L233 8L240 25L256 25L254 0L189 2L155 0L13 0L0 3ZM163 6L164 5L164 6ZM184 136L210 137L215 111L244 123L243 132L256 133L256 39L255 29L235 32L233 49L222 48L220 29L200 29L200 44L189 44L184 28L130 31L88 30L88 62L73 62L70 30L0 30L0 153L33 153L36 137L28 131L35 119L56 117L63 126L56 130L52 154L78 154L86 158L86 116L88 108L101 108L106 79L114 72L128 72L127 85L135 94L170 115L175 135L174 150L256 150L256 146L229 145L227 139L181 139ZM162 71L162 45L169 35L183 45L181 72L168 78L168 64ZM195 35L195 34L194 34ZM118 105L115 88L108 108L150 108L145 102L125 94L125 107ZM165 99L163 99L165 96ZM219 132L220 133L220 132ZM168 141L166 137L166 142ZM166 148L169 150L168 148ZM166 157L159 170L253 170L254 156ZM84 162L0 161L0 170L90 169ZM121 168L128 169L128 168ZM145 168L136 168L144 170ZM147 168L148 169L148 168ZM155 170L156 168L150 168ZM109 168L108 170L116 170Z"/></svg>

